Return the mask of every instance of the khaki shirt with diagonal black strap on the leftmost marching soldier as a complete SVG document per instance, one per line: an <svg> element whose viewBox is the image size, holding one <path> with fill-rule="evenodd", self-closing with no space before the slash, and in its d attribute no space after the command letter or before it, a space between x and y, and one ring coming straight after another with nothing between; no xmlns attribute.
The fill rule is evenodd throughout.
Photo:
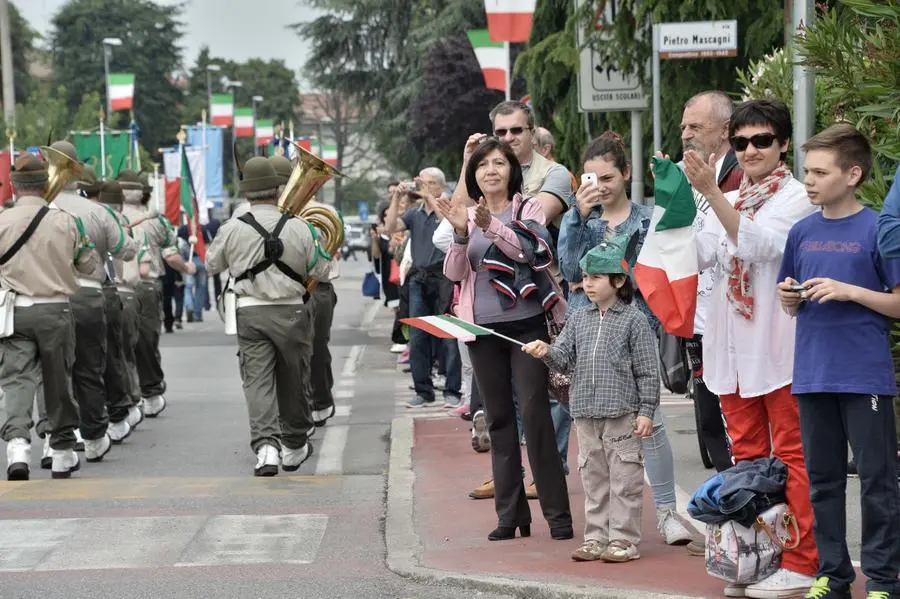
<svg viewBox="0 0 900 599"><path fill-rule="evenodd" d="M18 241L42 206L47 206L42 198L23 196L13 208L0 213L0 256ZM86 243L75 217L51 210L31 239L0 266L0 287L30 297L78 293L76 268L88 275L98 264L97 255Z"/></svg>

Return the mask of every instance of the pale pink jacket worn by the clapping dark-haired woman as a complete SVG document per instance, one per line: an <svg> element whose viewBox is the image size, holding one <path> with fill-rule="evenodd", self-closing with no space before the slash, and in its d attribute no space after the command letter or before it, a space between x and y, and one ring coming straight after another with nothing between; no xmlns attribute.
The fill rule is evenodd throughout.
<svg viewBox="0 0 900 599"><path fill-rule="evenodd" d="M512 211L513 214L519 214L519 206L522 207L521 220L533 220L541 224L546 224L544 210L541 208L540 202L532 198L525 199L520 194L513 197ZM469 235L475 230L475 208L469 208ZM506 254L510 259L516 262L525 262L525 256L522 255L522 246L519 239L499 219L491 217L491 224L484 232L484 236L490 240L497 248ZM459 305L456 309L456 315L469 322L475 321L475 271L469 263L469 257L466 255L468 249L467 244L456 243L454 239L450 245L450 250L444 258L444 275L454 282L461 283L459 290ZM562 289L555 279L553 279L553 288L559 294L560 301L556 302L551 312L553 320L558 325L565 324L566 319L566 301L563 298Z"/></svg>

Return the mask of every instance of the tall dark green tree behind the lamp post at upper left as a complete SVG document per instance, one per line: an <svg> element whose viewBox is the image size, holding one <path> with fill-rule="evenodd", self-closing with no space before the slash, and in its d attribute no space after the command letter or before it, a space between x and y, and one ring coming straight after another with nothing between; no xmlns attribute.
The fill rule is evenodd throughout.
<svg viewBox="0 0 900 599"><path fill-rule="evenodd" d="M181 56L181 5L150 0L71 0L53 17L51 34L54 78L65 84L66 105L75 111L85 94L102 91L103 38L118 37L111 72L135 75L135 117L143 127L143 144L151 149L175 143L182 94L171 80ZM103 23L102 28L97 23ZM128 126L129 115L109 115L109 126Z"/></svg>

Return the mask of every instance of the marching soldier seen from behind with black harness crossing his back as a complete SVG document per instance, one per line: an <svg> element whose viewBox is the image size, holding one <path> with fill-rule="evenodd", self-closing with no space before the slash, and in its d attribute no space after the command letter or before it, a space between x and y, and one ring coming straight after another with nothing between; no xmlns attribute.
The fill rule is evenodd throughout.
<svg viewBox="0 0 900 599"><path fill-rule="evenodd" d="M248 160L241 191L250 211L222 225L206 254L211 274L228 270L234 278L256 476L274 476L279 464L293 472L312 455L309 401L303 392L297 396L307 384L312 352L304 280L324 279L328 271L309 225L278 210L279 183L268 160Z"/></svg>

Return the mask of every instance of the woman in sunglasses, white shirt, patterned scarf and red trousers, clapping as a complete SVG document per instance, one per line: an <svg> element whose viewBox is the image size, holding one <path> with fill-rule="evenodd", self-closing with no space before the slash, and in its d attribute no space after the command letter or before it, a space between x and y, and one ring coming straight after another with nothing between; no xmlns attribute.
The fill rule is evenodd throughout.
<svg viewBox="0 0 900 599"><path fill-rule="evenodd" d="M785 491L800 544L784 552L772 576L750 586L729 585L725 596L793 597L814 582L818 553L800 417L791 395L794 321L781 310L776 285L788 231L815 207L784 163L792 133L787 106L778 100L744 102L729 127L744 171L738 191L719 191L718 156L705 163L692 150L684 155L685 174L714 213L697 235L700 268L718 267L703 338L703 378L721 399L735 461L774 453L787 466Z"/></svg>

